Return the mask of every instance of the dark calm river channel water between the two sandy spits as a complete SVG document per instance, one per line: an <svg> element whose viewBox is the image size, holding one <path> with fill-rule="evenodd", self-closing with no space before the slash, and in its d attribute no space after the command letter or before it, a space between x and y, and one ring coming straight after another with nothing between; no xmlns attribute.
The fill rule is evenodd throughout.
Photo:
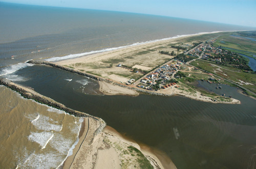
<svg viewBox="0 0 256 169"><path fill-rule="evenodd" d="M84 86L100 94L97 82L48 66L35 65L15 74L29 79L17 83L100 117L136 141L163 150L178 168L254 165L255 100L236 88L222 85L217 92L230 94L242 104L212 104L178 96L88 95L81 90Z"/></svg>

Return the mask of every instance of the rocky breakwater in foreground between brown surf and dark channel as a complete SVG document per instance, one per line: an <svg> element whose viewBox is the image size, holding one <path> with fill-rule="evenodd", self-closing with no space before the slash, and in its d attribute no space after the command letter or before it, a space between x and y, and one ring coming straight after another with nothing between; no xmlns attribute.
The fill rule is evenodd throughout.
<svg viewBox="0 0 256 169"><path fill-rule="evenodd" d="M71 108L68 108L65 105L63 105L59 102L56 102L55 100L53 100L49 97L41 95L41 94L39 94L39 93L35 92L34 90L29 89L27 87L20 86L16 83L12 82L11 80L6 79L6 78L0 78L0 85L4 85L4 86L18 92L24 98L33 99L33 100L35 100L39 103L46 104L46 105L49 105L51 107L63 110L63 111L67 112L70 115L74 115L76 117L89 117L89 118L92 118L94 120L100 121L102 123L102 126L100 127L101 129L99 129L99 131L101 131L106 125L105 122L100 118L91 116L91 115L86 114L84 112L80 112L80 111L76 111L76 110L73 110Z"/></svg>

